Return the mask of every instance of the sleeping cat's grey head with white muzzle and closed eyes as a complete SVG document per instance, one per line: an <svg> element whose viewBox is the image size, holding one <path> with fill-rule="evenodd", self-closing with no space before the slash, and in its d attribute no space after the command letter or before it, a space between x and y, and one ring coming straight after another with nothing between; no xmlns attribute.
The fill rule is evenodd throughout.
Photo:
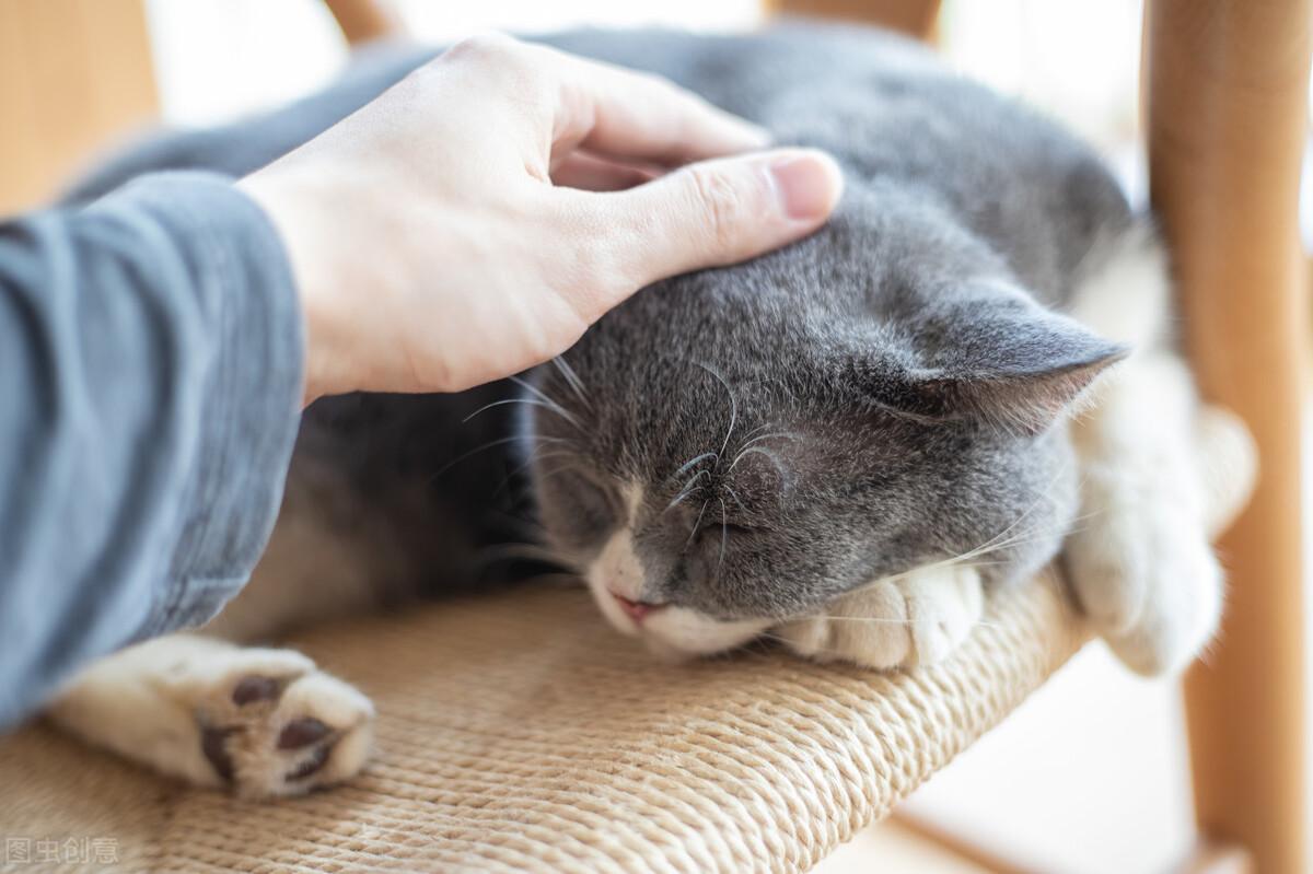
<svg viewBox="0 0 1313 874"><path fill-rule="evenodd" d="M534 374L541 521L617 629L713 652L931 562L1056 551L1060 423L1121 350L871 224L663 282Z"/></svg>

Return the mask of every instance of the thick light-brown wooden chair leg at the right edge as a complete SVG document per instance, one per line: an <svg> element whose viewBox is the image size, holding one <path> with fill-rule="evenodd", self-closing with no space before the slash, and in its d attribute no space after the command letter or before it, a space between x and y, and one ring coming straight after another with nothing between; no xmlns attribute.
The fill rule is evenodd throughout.
<svg viewBox="0 0 1313 874"><path fill-rule="evenodd" d="M1186 343L1205 396L1249 423L1262 467L1220 546L1221 638L1186 681L1196 815L1205 839L1295 874L1308 870L1297 207L1309 0L1153 0L1146 24L1150 194Z"/></svg>

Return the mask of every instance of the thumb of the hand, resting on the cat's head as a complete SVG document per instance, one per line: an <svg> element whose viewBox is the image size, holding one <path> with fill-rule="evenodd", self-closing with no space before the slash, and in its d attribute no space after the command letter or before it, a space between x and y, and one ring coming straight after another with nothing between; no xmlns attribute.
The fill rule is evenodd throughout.
<svg viewBox="0 0 1313 874"><path fill-rule="evenodd" d="M689 164L600 197L625 240L614 257L638 287L801 239L825 223L842 192L832 157L790 148Z"/></svg>

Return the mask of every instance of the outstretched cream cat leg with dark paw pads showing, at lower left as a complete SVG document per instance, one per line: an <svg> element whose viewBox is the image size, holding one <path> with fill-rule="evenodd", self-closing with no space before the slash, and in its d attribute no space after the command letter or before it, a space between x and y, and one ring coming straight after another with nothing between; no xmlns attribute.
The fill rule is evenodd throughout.
<svg viewBox="0 0 1313 874"><path fill-rule="evenodd" d="M374 709L299 652L175 634L95 663L49 714L160 773L264 798L356 774Z"/></svg>

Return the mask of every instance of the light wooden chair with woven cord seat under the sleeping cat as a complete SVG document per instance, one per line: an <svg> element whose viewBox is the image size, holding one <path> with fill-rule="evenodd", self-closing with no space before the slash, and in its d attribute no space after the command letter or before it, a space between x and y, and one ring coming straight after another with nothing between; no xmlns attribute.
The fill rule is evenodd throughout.
<svg viewBox="0 0 1313 874"><path fill-rule="evenodd" d="M397 29L376 3L328 5L353 42ZM937 7L772 4L918 35ZM1186 340L1204 392L1246 419L1262 454L1258 491L1221 545L1222 635L1186 680L1200 844L1180 870L1296 874L1308 870L1297 194L1309 0L1154 0L1145 22L1152 201ZM689 680L599 634L583 598L534 597L302 639L382 710L378 764L334 793L243 807L30 728L0 743L0 782L21 787L0 799L0 823L109 829L131 843L126 866L143 869L804 870L1085 639L1041 581L995 605L940 668L881 677L758 654L691 668ZM433 657L461 663L461 676L424 671ZM131 804L112 803L125 793ZM986 867L1019 870L939 837Z"/></svg>

